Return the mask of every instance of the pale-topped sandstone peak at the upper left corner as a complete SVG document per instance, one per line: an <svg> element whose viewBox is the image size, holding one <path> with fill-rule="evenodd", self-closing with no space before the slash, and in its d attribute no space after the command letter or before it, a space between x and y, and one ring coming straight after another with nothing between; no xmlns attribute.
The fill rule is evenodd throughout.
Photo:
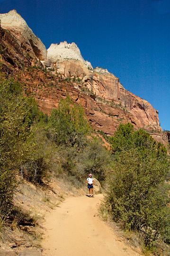
<svg viewBox="0 0 170 256"><path fill-rule="evenodd" d="M1 27L8 29L17 39L18 44L27 53L27 58L33 62L46 59L46 48L41 40L35 36L27 26L26 21L17 13L11 10L8 13L0 14Z"/></svg>

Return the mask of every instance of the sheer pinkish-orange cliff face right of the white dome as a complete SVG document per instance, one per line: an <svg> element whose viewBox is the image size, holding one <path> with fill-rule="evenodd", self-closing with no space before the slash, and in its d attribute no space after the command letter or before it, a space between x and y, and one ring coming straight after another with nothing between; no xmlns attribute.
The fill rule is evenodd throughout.
<svg viewBox="0 0 170 256"><path fill-rule="evenodd" d="M93 73L83 78L84 85L100 100L130 112L130 122L136 128L160 131L158 111L152 105L130 91L126 91L119 79L111 73Z"/></svg>

